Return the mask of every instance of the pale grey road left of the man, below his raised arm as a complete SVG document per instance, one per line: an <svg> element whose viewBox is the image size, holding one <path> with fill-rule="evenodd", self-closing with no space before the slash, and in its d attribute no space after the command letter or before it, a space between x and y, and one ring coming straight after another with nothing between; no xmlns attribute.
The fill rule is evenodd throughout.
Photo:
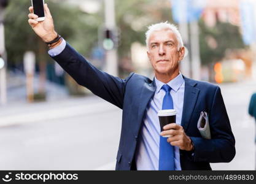
<svg viewBox="0 0 256 184"><path fill-rule="evenodd" d="M0 169L114 168L121 118L95 97L2 108Z"/></svg>

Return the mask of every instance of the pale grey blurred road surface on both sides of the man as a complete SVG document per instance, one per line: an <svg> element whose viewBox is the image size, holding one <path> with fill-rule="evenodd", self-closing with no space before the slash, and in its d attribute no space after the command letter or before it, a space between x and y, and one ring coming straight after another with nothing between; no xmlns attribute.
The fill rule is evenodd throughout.
<svg viewBox="0 0 256 184"><path fill-rule="evenodd" d="M247 114L255 82L220 85L236 138L231 163L255 169L255 121ZM96 96L0 107L1 170L114 170L122 110Z"/></svg>

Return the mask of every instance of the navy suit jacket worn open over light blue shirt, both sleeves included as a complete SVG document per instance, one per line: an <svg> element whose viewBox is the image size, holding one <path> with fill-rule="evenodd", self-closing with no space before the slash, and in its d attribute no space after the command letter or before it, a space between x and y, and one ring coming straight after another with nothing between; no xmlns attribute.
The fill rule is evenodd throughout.
<svg viewBox="0 0 256 184"><path fill-rule="evenodd" d="M69 44L53 57L63 69L92 93L123 110L122 132L116 170L131 170L146 107L155 93L155 82L132 73L120 79L99 71ZM208 82L184 77L184 107L181 125L195 150L180 150L182 170L210 170L209 163L230 162L235 156L235 138L231 131L220 88ZM203 139L197 129L201 111L208 112L212 139Z"/></svg>

